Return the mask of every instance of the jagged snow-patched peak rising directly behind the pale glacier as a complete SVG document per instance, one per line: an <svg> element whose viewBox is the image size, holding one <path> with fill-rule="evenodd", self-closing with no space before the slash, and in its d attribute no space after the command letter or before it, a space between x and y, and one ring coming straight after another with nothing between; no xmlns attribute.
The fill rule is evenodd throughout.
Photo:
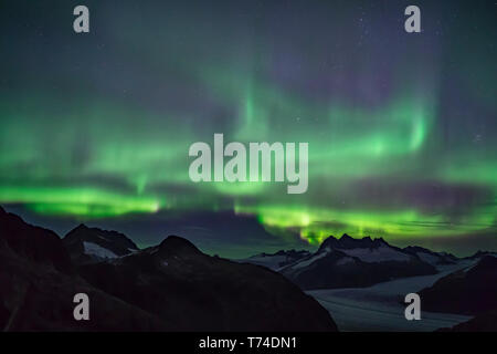
<svg viewBox="0 0 497 354"><path fill-rule="evenodd" d="M383 239L326 239L318 251L281 271L300 288L361 288L402 277L434 274L436 269L419 256Z"/></svg>

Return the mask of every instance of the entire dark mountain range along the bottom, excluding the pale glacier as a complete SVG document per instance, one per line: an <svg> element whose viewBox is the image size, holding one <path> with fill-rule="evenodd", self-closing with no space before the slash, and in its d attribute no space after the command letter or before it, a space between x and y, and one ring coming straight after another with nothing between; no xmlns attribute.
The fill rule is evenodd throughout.
<svg viewBox="0 0 497 354"><path fill-rule="evenodd" d="M64 238L0 208L0 329L6 331L337 331L304 290L364 288L446 272L420 293L423 311L474 316L443 331L497 331L497 253L459 259L381 238L327 238L315 252L242 260L169 236L139 249L123 233L80 225ZM442 274L442 273L441 273ZM91 321L73 296L88 294Z"/></svg>

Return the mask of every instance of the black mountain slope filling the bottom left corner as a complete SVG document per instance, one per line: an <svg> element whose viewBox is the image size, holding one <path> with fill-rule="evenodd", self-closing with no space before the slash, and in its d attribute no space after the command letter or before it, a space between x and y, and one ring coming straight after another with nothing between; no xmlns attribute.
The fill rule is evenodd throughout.
<svg viewBox="0 0 497 354"><path fill-rule="evenodd" d="M92 300L91 321L76 322L73 298ZM0 330L158 331L158 316L80 278L61 239L0 208Z"/></svg>

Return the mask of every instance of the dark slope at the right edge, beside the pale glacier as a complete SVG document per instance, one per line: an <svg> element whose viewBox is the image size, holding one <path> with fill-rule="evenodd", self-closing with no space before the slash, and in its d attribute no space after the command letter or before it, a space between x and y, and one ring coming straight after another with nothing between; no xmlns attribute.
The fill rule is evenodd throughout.
<svg viewBox="0 0 497 354"><path fill-rule="evenodd" d="M433 312L482 314L497 310L497 258L482 258L469 269L451 273L420 292Z"/></svg>

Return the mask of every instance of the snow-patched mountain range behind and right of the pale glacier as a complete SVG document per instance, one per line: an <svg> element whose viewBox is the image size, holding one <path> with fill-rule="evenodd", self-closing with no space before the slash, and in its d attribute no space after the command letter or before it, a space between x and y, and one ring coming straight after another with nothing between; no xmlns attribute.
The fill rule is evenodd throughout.
<svg viewBox="0 0 497 354"><path fill-rule="evenodd" d="M314 253L278 251L243 261L276 269L315 294L319 289L367 288L406 277L447 273L419 292L423 311L474 316L441 331L497 331L496 252L457 258L415 246L396 248L381 238L343 235L339 239L329 237ZM447 272L451 269L455 271ZM367 302L363 305L368 306Z"/></svg>

